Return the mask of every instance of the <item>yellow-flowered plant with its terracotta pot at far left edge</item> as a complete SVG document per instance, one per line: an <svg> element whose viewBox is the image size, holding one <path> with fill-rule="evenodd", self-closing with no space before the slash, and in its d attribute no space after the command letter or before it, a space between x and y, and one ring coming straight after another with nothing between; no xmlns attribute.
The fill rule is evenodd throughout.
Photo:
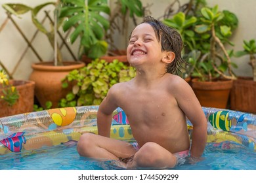
<svg viewBox="0 0 256 183"><path fill-rule="evenodd" d="M9 80L0 71L0 118L33 111L35 83L26 80Z"/></svg>

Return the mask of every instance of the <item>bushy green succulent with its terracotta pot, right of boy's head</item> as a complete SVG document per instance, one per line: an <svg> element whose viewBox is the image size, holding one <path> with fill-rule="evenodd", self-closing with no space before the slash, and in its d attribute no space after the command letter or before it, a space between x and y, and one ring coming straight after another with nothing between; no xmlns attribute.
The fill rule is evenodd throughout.
<svg viewBox="0 0 256 183"><path fill-rule="evenodd" d="M236 65L230 59L232 50L226 50L224 44L232 45L228 38L238 19L228 10L220 12L217 5L213 8L202 7L195 17L188 16L186 18L178 13L173 19L165 20L165 24L173 27L177 24L185 30L183 37L187 37L185 42L188 47L184 55L190 61L191 85L201 105L226 108L232 80L236 79L232 67Z"/></svg>

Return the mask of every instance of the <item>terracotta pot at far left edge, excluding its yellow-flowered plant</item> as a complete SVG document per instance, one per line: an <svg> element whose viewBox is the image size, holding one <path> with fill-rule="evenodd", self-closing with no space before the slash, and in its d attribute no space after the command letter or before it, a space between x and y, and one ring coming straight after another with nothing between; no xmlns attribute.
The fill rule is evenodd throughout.
<svg viewBox="0 0 256 183"><path fill-rule="evenodd" d="M0 99L0 117L32 112L35 82L24 80L11 80L10 82L16 87L19 98L12 106L9 106L6 101ZM0 95L3 95L1 88Z"/></svg>

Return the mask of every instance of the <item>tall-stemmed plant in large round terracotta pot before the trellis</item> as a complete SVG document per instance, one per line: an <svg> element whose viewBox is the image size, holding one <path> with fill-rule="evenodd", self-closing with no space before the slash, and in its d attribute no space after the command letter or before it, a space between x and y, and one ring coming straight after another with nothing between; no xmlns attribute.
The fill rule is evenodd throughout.
<svg viewBox="0 0 256 183"><path fill-rule="evenodd" d="M51 22L51 29L48 30L41 22L39 22L37 15L43 8L53 6L54 8L54 22ZM64 90L62 88L61 80L73 69L83 67L85 64L77 61L63 61L62 54L56 41L56 31L62 20L56 18L58 16L58 3L48 2L36 7L29 7L20 3L7 3L3 5L3 8L7 10L9 14L20 16L31 12L32 22L41 33L47 36L51 46L54 48L54 61L41 61L40 63L32 64L33 72L30 75L30 80L35 82L35 96L42 107L46 107L45 103L51 101L53 108L58 106L60 98L66 96L71 88ZM49 87L51 86L51 87Z"/></svg>

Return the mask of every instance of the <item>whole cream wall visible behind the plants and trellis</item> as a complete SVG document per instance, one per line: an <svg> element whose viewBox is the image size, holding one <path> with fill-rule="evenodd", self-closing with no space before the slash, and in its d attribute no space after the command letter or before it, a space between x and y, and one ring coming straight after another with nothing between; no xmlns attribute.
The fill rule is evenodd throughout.
<svg viewBox="0 0 256 183"><path fill-rule="evenodd" d="M25 5L30 5L31 7L34 7L35 5L48 2L47 0L1 0L0 5L3 3L23 3ZM110 5L114 5L114 0L110 0ZM159 18L165 8L173 1L169 0L142 0L143 5L150 5L150 12L151 15L155 18ZM181 4L184 2L187 2L186 0L181 0ZM234 12L239 19L239 25L238 29L234 33L234 36L232 37L232 41L235 43L234 50L238 51L242 49L242 41L244 39L256 39L255 29L256 29L256 14L254 12L254 7L256 5L255 0L247 0L246 3L241 0L215 0L215 1L207 1L208 5L213 7L214 5L218 4L219 8L221 10L227 9L231 12ZM44 13L42 12L39 14L39 17L43 18ZM7 18L7 15L5 14L5 10L0 6L0 61L4 63L4 65L7 67L7 69L13 73L13 77L16 79L28 79L30 76L30 73L32 72L31 64L39 62L39 59L35 56L35 54L32 52L30 48L28 48L28 51L25 52L27 49L27 43L24 41L24 39L21 37L20 33L16 30L12 22L9 20L7 24L5 25L4 29L1 29L1 26L3 27L3 24ZM33 33L35 33L36 28L32 24L30 13L24 14L22 18L16 18L14 17L14 20L17 22L17 24L21 27L21 29L24 31L24 34L28 39L32 39ZM140 22L140 20L138 21ZM45 23L46 25L49 24L49 22ZM119 48L126 48L127 45L127 37L129 33L131 33L134 25L129 24L128 29L126 30L126 33L124 35L121 34L115 34L114 38L116 40L116 44ZM68 40L67 40L68 41ZM35 50L39 52L39 55L44 61L51 61L53 60L53 49L51 48L51 45L49 44L49 41L43 35L42 33L38 33L35 37L34 41L32 42L33 46L35 46ZM77 54L77 45L78 42L76 41L75 44L71 45L74 54ZM21 58L22 54L24 54L24 58L20 60L20 63L18 63L19 59ZM72 57L70 54L66 51L66 48L63 48L62 54L64 55L64 59L71 60ZM242 75L242 76L251 76L252 71L251 67L247 64L249 61L248 56L244 56L243 58L232 58L232 61L238 65L238 69L235 69L236 75ZM18 66L16 66L18 63ZM14 71L16 67L16 70Z"/></svg>

